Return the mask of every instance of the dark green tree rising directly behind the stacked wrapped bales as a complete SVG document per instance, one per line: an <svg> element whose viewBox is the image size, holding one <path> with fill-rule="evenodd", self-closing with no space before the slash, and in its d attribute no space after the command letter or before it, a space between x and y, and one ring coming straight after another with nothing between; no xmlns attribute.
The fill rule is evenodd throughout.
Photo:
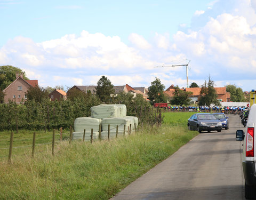
<svg viewBox="0 0 256 200"><path fill-rule="evenodd" d="M101 76L97 82L96 94L103 102L110 102L111 94L115 93L114 85L106 76Z"/></svg>

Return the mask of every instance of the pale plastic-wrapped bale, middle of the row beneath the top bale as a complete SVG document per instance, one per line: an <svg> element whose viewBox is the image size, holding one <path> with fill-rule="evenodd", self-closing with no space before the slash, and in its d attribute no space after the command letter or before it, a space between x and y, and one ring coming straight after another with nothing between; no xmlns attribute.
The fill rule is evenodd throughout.
<svg viewBox="0 0 256 200"><path fill-rule="evenodd" d="M126 117L112 117L112 118L103 118L102 119L102 131L108 131L108 125L110 125L110 131L116 131L116 126L118 125L118 131L128 131L130 124L133 124L132 118Z"/></svg>

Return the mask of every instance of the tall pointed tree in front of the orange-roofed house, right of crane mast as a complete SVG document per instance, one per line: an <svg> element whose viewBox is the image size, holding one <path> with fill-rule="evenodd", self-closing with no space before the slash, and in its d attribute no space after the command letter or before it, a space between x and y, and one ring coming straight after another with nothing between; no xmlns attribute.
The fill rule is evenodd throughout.
<svg viewBox="0 0 256 200"><path fill-rule="evenodd" d="M214 105L220 105L220 102L217 100L217 92L214 89L214 81L211 80L211 77L209 76L209 81L206 83L206 80L204 81L204 85L201 86L200 94L202 97L200 97L198 105L199 106L210 106L212 103Z"/></svg>

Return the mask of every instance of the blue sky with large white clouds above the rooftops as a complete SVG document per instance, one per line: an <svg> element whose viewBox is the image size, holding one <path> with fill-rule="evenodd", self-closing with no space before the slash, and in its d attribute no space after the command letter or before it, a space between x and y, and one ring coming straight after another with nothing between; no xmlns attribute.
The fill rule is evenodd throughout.
<svg viewBox="0 0 256 200"><path fill-rule="evenodd" d="M0 66L39 86L256 90L256 0L0 0ZM175 65L185 65L176 66Z"/></svg>

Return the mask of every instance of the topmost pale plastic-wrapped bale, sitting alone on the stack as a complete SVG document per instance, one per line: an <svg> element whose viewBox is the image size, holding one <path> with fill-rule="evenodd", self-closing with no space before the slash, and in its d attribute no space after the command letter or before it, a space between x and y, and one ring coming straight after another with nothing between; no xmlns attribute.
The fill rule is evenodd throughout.
<svg viewBox="0 0 256 200"><path fill-rule="evenodd" d="M103 119L110 117L126 116L126 106L123 104L101 104L91 107L91 115L93 118Z"/></svg>

